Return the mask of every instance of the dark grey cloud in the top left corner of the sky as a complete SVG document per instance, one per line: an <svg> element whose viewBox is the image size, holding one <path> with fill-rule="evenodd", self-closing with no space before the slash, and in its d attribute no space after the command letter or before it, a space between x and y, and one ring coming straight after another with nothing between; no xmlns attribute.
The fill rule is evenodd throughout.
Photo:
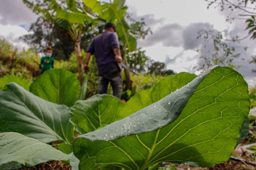
<svg viewBox="0 0 256 170"><path fill-rule="evenodd" d="M37 15L23 4L22 0L1 0L0 1L0 24L19 25L26 30L30 24L36 21Z"/></svg>

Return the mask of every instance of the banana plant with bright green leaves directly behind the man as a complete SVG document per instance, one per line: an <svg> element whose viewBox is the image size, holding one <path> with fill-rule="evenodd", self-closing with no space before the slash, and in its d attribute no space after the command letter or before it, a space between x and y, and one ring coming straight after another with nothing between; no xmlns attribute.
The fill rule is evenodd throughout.
<svg viewBox="0 0 256 170"><path fill-rule="evenodd" d="M125 6L125 0L114 0L113 3L100 2L97 0L83 0L85 6L91 10L97 16L91 17L94 19L94 23L99 24L105 22L112 22L116 25L117 34L119 37L120 45L122 46L123 62L127 64L126 53L132 52L137 49L137 39L132 34L132 28L125 20L125 14L127 6ZM68 22L77 22L84 24L88 21L86 17L90 16L85 10L82 11L59 11L57 13L59 18L65 19ZM129 87L130 74L129 71L125 69L126 77L126 87Z"/></svg>

